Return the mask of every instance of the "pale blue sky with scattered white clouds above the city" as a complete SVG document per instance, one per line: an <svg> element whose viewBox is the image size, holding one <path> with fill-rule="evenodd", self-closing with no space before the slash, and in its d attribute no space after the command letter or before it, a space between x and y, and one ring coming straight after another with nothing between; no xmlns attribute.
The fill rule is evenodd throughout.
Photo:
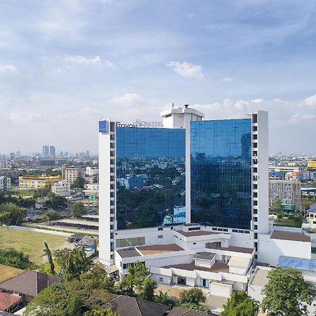
<svg viewBox="0 0 316 316"><path fill-rule="evenodd" d="M315 0L1 0L0 153L98 152L98 119L269 111L316 154Z"/></svg>

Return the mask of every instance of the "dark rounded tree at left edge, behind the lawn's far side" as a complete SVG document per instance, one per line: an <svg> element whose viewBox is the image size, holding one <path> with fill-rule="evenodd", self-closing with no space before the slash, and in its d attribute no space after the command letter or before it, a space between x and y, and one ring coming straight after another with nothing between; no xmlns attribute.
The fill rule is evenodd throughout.
<svg viewBox="0 0 316 316"><path fill-rule="evenodd" d="M26 209L11 202L0 205L1 225L21 225L26 215Z"/></svg>

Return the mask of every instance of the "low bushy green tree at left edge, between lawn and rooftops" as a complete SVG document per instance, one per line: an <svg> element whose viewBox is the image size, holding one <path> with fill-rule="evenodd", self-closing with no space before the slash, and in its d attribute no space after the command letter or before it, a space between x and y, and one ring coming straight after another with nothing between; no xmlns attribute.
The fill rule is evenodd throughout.
<svg viewBox="0 0 316 316"><path fill-rule="evenodd" d="M15 248L0 249L0 263L9 265L10 267L19 268L22 270L32 269L34 263L29 260L29 256Z"/></svg>

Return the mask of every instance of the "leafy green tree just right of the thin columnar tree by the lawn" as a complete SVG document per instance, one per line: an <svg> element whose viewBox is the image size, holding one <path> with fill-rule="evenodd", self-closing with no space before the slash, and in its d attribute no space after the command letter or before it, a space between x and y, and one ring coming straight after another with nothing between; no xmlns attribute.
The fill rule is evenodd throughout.
<svg viewBox="0 0 316 316"><path fill-rule="evenodd" d="M55 258L60 266L58 274L63 281L79 279L82 273L90 271L93 266L92 259L86 256L82 247L57 250Z"/></svg>

